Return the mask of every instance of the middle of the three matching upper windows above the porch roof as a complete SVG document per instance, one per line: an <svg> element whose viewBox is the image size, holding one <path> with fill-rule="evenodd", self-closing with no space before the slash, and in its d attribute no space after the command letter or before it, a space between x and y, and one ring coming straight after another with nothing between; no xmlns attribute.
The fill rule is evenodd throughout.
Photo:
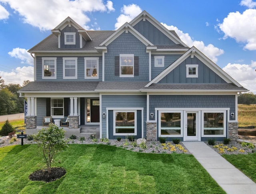
<svg viewBox="0 0 256 194"><path fill-rule="evenodd" d="M77 57L63 58L63 79L77 79Z"/></svg>

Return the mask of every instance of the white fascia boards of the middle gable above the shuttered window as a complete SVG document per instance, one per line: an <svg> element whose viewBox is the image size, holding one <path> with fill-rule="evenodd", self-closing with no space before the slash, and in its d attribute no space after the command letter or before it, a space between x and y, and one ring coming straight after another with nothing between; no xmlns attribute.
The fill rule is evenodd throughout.
<svg viewBox="0 0 256 194"><path fill-rule="evenodd" d="M127 29L127 28L128 29ZM110 35L106 40L104 40L99 46L108 46L114 39L116 39L118 36L120 36L124 31L130 31L132 35L134 35L136 38L138 38L144 45L148 46L154 46L148 39L146 39L144 36L142 36L134 27L132 27L128 22L126 22L124 25L122 25L118 30L116 30L112 35Z"/></svg>

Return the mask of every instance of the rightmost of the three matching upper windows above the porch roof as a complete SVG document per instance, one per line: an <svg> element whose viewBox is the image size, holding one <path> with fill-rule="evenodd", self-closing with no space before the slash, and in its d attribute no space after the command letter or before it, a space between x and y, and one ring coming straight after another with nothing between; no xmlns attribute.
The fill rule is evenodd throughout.
<svg viewBox="0 0 256 194"><path fill-rule="evenodd" d="M99 78L99 57L84 57L85 79Z"/></svg>

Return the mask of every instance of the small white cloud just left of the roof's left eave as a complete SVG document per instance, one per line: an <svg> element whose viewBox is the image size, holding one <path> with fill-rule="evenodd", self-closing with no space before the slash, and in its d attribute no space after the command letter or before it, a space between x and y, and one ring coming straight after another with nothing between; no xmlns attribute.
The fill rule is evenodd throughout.
<svg viewBox="0 0 256 194"><path fill-rule="evenodd" d="M15 48L15 49L12 49L12 51L8 52L8 54L11 57L20 59L22 61L21 63L27 63L29 65L34 64L33 57L30 55L30 53L27 52L26 49Z"/></svg>

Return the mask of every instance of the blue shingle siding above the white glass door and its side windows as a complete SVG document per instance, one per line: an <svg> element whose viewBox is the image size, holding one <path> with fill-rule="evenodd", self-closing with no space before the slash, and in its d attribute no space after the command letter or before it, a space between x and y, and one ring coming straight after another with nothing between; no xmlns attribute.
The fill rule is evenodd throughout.
<svg viewBox="0 0 256 194"><path fill-rule="evenodd" d="M149 112L155 108L230 108L231 113L235 99L235 95L150 95Z"/></svg>

